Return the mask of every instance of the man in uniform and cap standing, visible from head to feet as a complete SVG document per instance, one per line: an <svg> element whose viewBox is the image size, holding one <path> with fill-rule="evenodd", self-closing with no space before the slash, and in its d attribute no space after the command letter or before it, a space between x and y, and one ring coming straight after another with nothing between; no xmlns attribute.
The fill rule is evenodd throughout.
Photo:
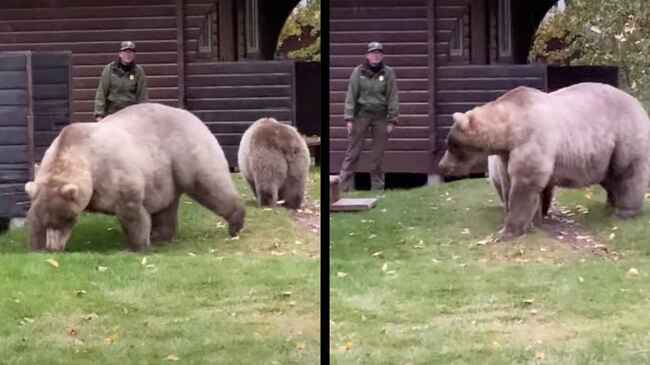
<svg viewBox="0 0 650 365"><path fill-rule="evenodd" d="M384 48L370 42L366 62L354 68L345 97L343 119L348 129L348 148L339 174L341 191L349 191L367 130L372 131L370 181L372 190L384 189L382 160L388 136L397 125L399 99L395 71L383 63Z"/></svg>

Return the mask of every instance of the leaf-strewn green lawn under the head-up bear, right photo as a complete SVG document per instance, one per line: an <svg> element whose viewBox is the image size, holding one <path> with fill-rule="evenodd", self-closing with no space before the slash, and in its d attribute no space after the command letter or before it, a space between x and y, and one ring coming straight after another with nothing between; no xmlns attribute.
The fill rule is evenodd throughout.
<svg viewBox="0 0 650 365"><path fill-rule="evenodd" d="M334 214L332 363L650 363L648 208L621 221L599 187L556 197L577 235L487 242L503 211L485 179Z"/></svg>

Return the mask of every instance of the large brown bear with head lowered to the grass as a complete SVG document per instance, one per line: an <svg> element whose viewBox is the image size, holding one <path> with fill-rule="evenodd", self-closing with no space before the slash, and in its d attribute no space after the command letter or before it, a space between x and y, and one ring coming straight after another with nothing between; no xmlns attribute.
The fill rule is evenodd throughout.
<svg viewBox="0 0 650 365"><path fill-rule="evenodd" d="M244 224L217 140L190 112L160 104L65 127L25 190L35 250L63 250L84 210L116 215L132 250L171 240L181 193L224 217L230 235Z"/></svg>

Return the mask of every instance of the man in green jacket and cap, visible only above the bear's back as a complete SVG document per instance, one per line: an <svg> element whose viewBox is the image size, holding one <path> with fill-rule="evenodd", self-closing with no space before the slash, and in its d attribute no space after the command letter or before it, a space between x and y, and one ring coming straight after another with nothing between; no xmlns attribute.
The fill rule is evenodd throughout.
<svg viewBox="0 0 650 365"><path fill-rule="evenodd" d="M135 43L124 41L117 60L109 63L95 94L95 119L102 118L129 105L147 101L147 79L142 66L135 63Z"/></svg>

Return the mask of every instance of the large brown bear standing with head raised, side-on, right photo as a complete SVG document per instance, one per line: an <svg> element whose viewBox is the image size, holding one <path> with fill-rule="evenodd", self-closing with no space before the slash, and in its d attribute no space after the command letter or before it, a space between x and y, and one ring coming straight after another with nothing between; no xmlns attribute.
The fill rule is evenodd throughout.
<svg viewBox="0 0 650 365"><path fill-rule="evenodd" d="M502 239L526 231L540 194L552 196L554 186L600 184L618 217L640 213L650 179L650 120L625 92L599 83L552 93L518 87L453 118L440 170L464 175L487 155L500 156L507 171Z"/></svg>

